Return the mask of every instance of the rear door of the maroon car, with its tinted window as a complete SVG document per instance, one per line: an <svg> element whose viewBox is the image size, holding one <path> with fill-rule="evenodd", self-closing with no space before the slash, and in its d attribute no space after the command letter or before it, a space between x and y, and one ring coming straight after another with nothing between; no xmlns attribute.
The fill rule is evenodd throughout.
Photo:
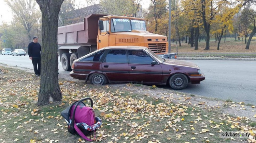
<svg viewBox="0 0 256 143"><path fill-rule="evenodd" d="M110 49L102 62L102 72L109 81L129 81L129 65L126 50Z"/></svg>

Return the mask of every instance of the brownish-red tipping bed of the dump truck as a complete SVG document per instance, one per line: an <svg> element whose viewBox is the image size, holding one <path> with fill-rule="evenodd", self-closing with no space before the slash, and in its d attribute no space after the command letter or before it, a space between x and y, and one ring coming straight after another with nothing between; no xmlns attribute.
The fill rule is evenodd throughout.
<svg viewBox="0 0 256 143"><path fill-rule="evenodd" d="M102 16L106 15L90 14L84 18L84 22L58 27L58 44L60 46L96 45L98 20Z"/></svg>

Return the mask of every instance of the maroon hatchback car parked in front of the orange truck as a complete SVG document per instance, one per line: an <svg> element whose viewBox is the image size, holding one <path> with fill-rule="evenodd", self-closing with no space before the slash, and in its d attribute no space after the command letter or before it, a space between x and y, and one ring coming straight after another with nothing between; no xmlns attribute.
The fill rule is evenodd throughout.
<svg viewBox="0 0 256 143"><path fill-rule="evenodd" d="M205 79L192 62L163 59L146 47L105 47L73 62L70 76L93 84L132 82L184 89Z"/></svg>

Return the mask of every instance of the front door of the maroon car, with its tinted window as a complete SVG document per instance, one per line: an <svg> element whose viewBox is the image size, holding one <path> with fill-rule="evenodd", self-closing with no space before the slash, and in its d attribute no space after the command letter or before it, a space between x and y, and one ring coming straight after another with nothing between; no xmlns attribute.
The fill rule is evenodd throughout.
<svg viewBox="0 0 256 143"><path fill-rule="evenodd" d="M143 50L128 50L129 72L132 82L160 83L162 67L151 65L155 59Z"/></svg>

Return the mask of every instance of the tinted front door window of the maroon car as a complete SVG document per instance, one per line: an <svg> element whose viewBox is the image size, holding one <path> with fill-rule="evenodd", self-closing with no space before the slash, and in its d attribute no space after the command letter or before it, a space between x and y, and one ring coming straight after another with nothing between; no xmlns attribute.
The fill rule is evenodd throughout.
<svg viewBox="0 0 256 143"><path fill-rule="evenodd" d="M128 57L130 64L151 64L153 59L141 50L129 50Z"/></svg>

